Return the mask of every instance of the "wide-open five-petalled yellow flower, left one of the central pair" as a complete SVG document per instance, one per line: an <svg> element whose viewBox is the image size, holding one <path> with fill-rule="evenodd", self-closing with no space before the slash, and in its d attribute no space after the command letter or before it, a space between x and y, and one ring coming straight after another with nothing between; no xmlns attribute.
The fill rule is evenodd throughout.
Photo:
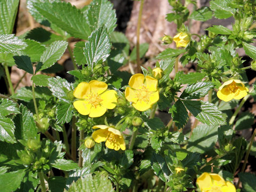
<svg viewBox="0 0 256 192"><path fill-rule="evenodd" d="M81 82L73 92L79 100L73 103L79 114L100 117L107 109L114 109L117 102L116 91L108 90L108 85L100 81Z"/></svg>

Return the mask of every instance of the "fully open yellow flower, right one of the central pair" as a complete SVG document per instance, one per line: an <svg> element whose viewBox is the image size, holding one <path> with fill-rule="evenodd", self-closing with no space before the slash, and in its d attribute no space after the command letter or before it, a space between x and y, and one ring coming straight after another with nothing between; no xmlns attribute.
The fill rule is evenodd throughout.
<svg viewBox="0 0 256 192"><path fill-rule="evenodd" d="M125 98L132 102L135 109L145 111L159 100L157 84L157 79L153 77L135 74L130 78L130 87L125 89Z"/></svg>

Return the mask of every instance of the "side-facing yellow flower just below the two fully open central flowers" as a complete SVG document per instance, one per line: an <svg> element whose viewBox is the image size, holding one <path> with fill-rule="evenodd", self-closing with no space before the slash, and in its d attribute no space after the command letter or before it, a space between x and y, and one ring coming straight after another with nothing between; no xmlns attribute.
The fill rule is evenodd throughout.
<svg viewBox="0 0 256 192"><path fill-rule="evenodd" d="M105 145L109 149L119 150L121 148L125 150L124 137L120 131L107 125L95 125L92 128L99 128L99 130L92 133L92 138L95 142L106 141Z"/></svg>

